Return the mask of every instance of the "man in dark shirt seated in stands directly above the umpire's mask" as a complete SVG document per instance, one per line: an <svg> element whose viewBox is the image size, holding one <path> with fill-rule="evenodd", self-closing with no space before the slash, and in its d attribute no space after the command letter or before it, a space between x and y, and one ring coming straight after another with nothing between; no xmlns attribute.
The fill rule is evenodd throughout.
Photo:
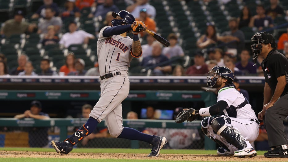
<svg viewBox="0 0 288 162"><path fill-rule="evenodd" d="M256 15L252 17L249 27L256 27L258 31L264 28L273 28L273 20L270 16L265 15L265 9L263 5L256 6Z"/></svg>

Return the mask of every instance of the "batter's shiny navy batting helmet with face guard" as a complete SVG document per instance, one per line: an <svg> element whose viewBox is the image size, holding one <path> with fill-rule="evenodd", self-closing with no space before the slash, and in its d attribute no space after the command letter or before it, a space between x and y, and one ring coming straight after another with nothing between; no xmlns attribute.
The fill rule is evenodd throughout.
<svg viewBox="0 0 288 162"><path fill-rule="evenodd" d="M112 16L116 18L117 16L120 16L122 19L112 19L111 23L113 26L122 25L124 24L132 24L135 21L135 18L133 15L131 15L128 11L122 10L118 13L112 12Z"/></svg>

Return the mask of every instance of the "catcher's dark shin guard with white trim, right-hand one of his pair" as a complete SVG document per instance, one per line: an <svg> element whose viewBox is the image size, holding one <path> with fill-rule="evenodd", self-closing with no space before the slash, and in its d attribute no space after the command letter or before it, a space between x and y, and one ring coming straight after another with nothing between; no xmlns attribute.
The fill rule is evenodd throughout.
<svg viewBox="0 0 288 162"><path fill-rule="evenodd" d="M232 144L236 148L244 149L247 147L245 139L240 132L231 126L225 125L225 120L223 117L216 117L211 122L211 126L218 135L222 136L228 143Z"/></svg>

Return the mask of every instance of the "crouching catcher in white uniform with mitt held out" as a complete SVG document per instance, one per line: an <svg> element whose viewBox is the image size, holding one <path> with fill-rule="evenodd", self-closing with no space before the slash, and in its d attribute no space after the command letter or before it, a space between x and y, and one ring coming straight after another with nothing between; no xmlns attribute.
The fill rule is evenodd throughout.
<svg viewBox="0 0 288 162"><path fill-rule="evenodd" d="M199 110L183 109L176 123L194 121L198 116L201 129L206 136L218 143L217 155L253 157L257 152L251 146L259 134L259 121L248 100L234 86L232 70L225 66L214 66L207 76L208 89L218 90L217 103Z"/></svg>

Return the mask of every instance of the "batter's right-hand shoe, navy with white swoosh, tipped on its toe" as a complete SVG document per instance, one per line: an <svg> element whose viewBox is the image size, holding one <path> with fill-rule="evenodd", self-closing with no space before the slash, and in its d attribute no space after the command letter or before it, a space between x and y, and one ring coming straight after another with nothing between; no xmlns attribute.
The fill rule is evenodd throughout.
<svg viewBox="0 0 288 162"><path fill-rule="evenodd" d="M152 150L151 153L147 157L155 156L157 157L160 154L160 150L162 147L166 145L168 141L166 137L155 136L152 140Z"/></svg>

